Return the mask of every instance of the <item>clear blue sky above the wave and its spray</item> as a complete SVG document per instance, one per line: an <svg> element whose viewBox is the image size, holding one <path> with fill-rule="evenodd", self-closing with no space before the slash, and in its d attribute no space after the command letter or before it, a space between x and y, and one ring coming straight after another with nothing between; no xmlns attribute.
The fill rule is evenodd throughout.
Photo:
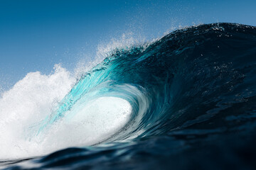
<svg viewBox="0 0 256 170"><path fill-rule="evenodd" d="M134 33L147 40L193 23L256 26L255 0L0 0L0 87L53 65L73 69L97 45Z"/></svg>

